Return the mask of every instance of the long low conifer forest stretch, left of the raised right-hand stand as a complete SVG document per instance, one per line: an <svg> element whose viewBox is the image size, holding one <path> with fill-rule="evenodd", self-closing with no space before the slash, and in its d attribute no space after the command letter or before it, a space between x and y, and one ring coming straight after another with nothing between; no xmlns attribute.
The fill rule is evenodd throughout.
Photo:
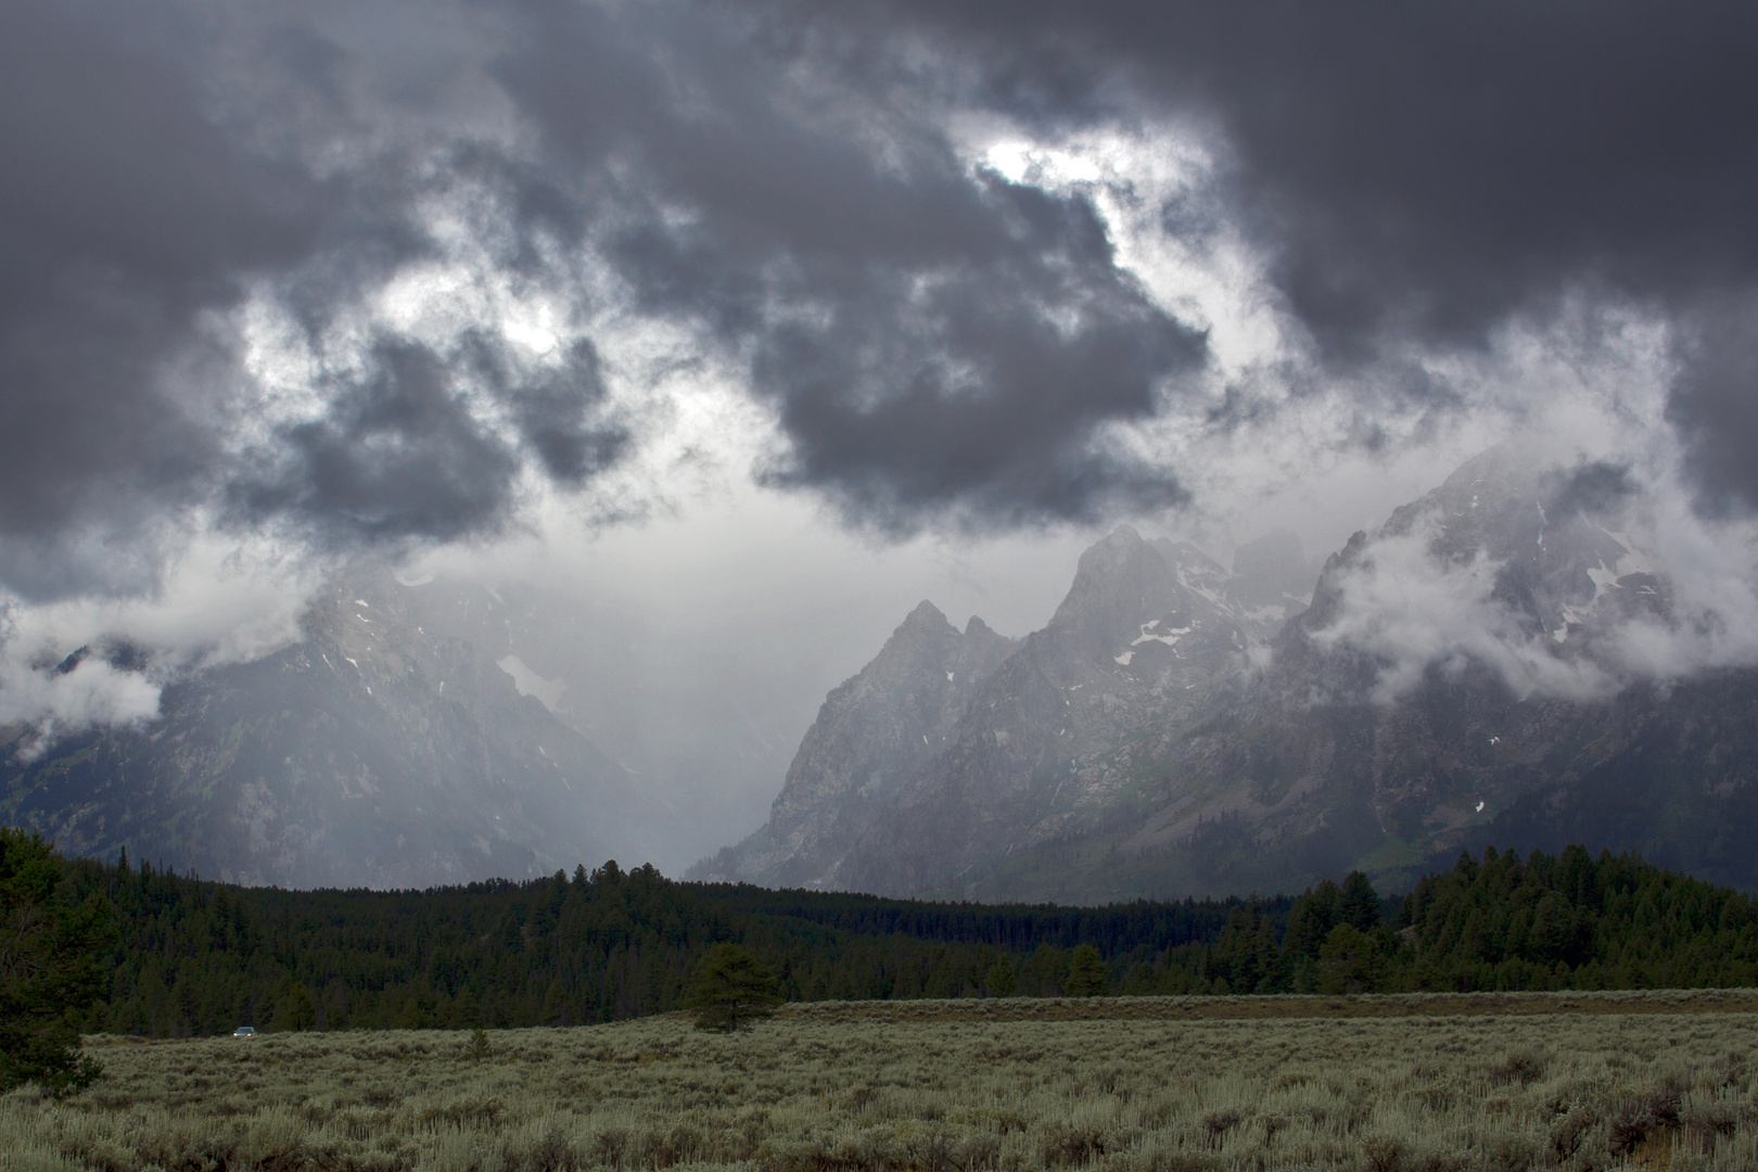
<svg viewBox="0 0 1758 1172"><path fill-rule="evenodd" d="M281 891L83 859L121 938L88 1030L183 1037L258 1028L529 1026L677 1009L714 944L744 944L789 1000L1062 991L1081 945L1116 965L1217 940L1241 900L1111 908L979 907L731 884L615 863L573 877L429 891ZM1282 922L1294 900L1253 903Z"/></svg>

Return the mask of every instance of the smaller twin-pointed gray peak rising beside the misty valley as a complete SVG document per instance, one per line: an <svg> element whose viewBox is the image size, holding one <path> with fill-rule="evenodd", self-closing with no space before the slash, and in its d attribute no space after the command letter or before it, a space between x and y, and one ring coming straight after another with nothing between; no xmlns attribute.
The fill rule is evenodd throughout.
<svg viewBox="0 0 1758 1172"><path fill-rule="evenodd" d="M879 655L825 699L768 824L693 873L833 884L874 814L946 749L958 713L1014 648L977 617L960 633L932 603L916 606Z"/></svg>

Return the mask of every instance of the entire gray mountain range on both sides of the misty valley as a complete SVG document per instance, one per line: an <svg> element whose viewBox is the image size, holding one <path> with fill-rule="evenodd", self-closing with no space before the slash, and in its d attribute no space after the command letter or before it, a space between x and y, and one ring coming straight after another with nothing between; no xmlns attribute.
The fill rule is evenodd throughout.
<svg viewBox="0 0 1758 1172"><path fill-rule="evenodd" d="M1514 450L1322 562L1287 531L1229 568L1122 525L1025 638L916 606L768 821L689 877L1104 903L1352 868L1398 891L1464 849L1580 842L1754 889L1758 671L1635 662L1688 622L1653 545L1617 469ZM527 594L352 568L297 641L178 676L155 720L0 729L0 822L209 879L413 887L675 854L668 828L701 840L781 773L761 698L717 742L654 691L687 664L599 678L615 633ZM93 657L151 666L116 645L53 671Z"/></svg>

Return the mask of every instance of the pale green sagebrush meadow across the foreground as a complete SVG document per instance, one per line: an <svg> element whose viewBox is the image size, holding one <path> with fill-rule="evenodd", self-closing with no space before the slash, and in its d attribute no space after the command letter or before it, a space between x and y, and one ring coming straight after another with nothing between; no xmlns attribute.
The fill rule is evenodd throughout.
<svg viewBox="0 0 1758 1172"><path fill-rule="evenodd" d="M93 1038L0 1167L1758 1168L1758 993L788 1007L575 1030Z"/></svg>

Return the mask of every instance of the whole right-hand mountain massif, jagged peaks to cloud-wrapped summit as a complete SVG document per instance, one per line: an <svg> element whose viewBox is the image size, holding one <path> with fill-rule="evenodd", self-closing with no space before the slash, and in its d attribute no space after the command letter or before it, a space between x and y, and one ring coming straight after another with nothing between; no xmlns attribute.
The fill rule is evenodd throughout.
<svg viewBox="0 0 1758 1172"><path fill-rule="evenodd" d="M1538 469L1471 460L1304 594L1292 534L1229 573L1125 525L1006 655L925 603L832 692L768 824L691 875L1097 903L1584 842L1758 886L1758 673L1607 666L1674 622L1668 582L1616 469Z"/></svg>

